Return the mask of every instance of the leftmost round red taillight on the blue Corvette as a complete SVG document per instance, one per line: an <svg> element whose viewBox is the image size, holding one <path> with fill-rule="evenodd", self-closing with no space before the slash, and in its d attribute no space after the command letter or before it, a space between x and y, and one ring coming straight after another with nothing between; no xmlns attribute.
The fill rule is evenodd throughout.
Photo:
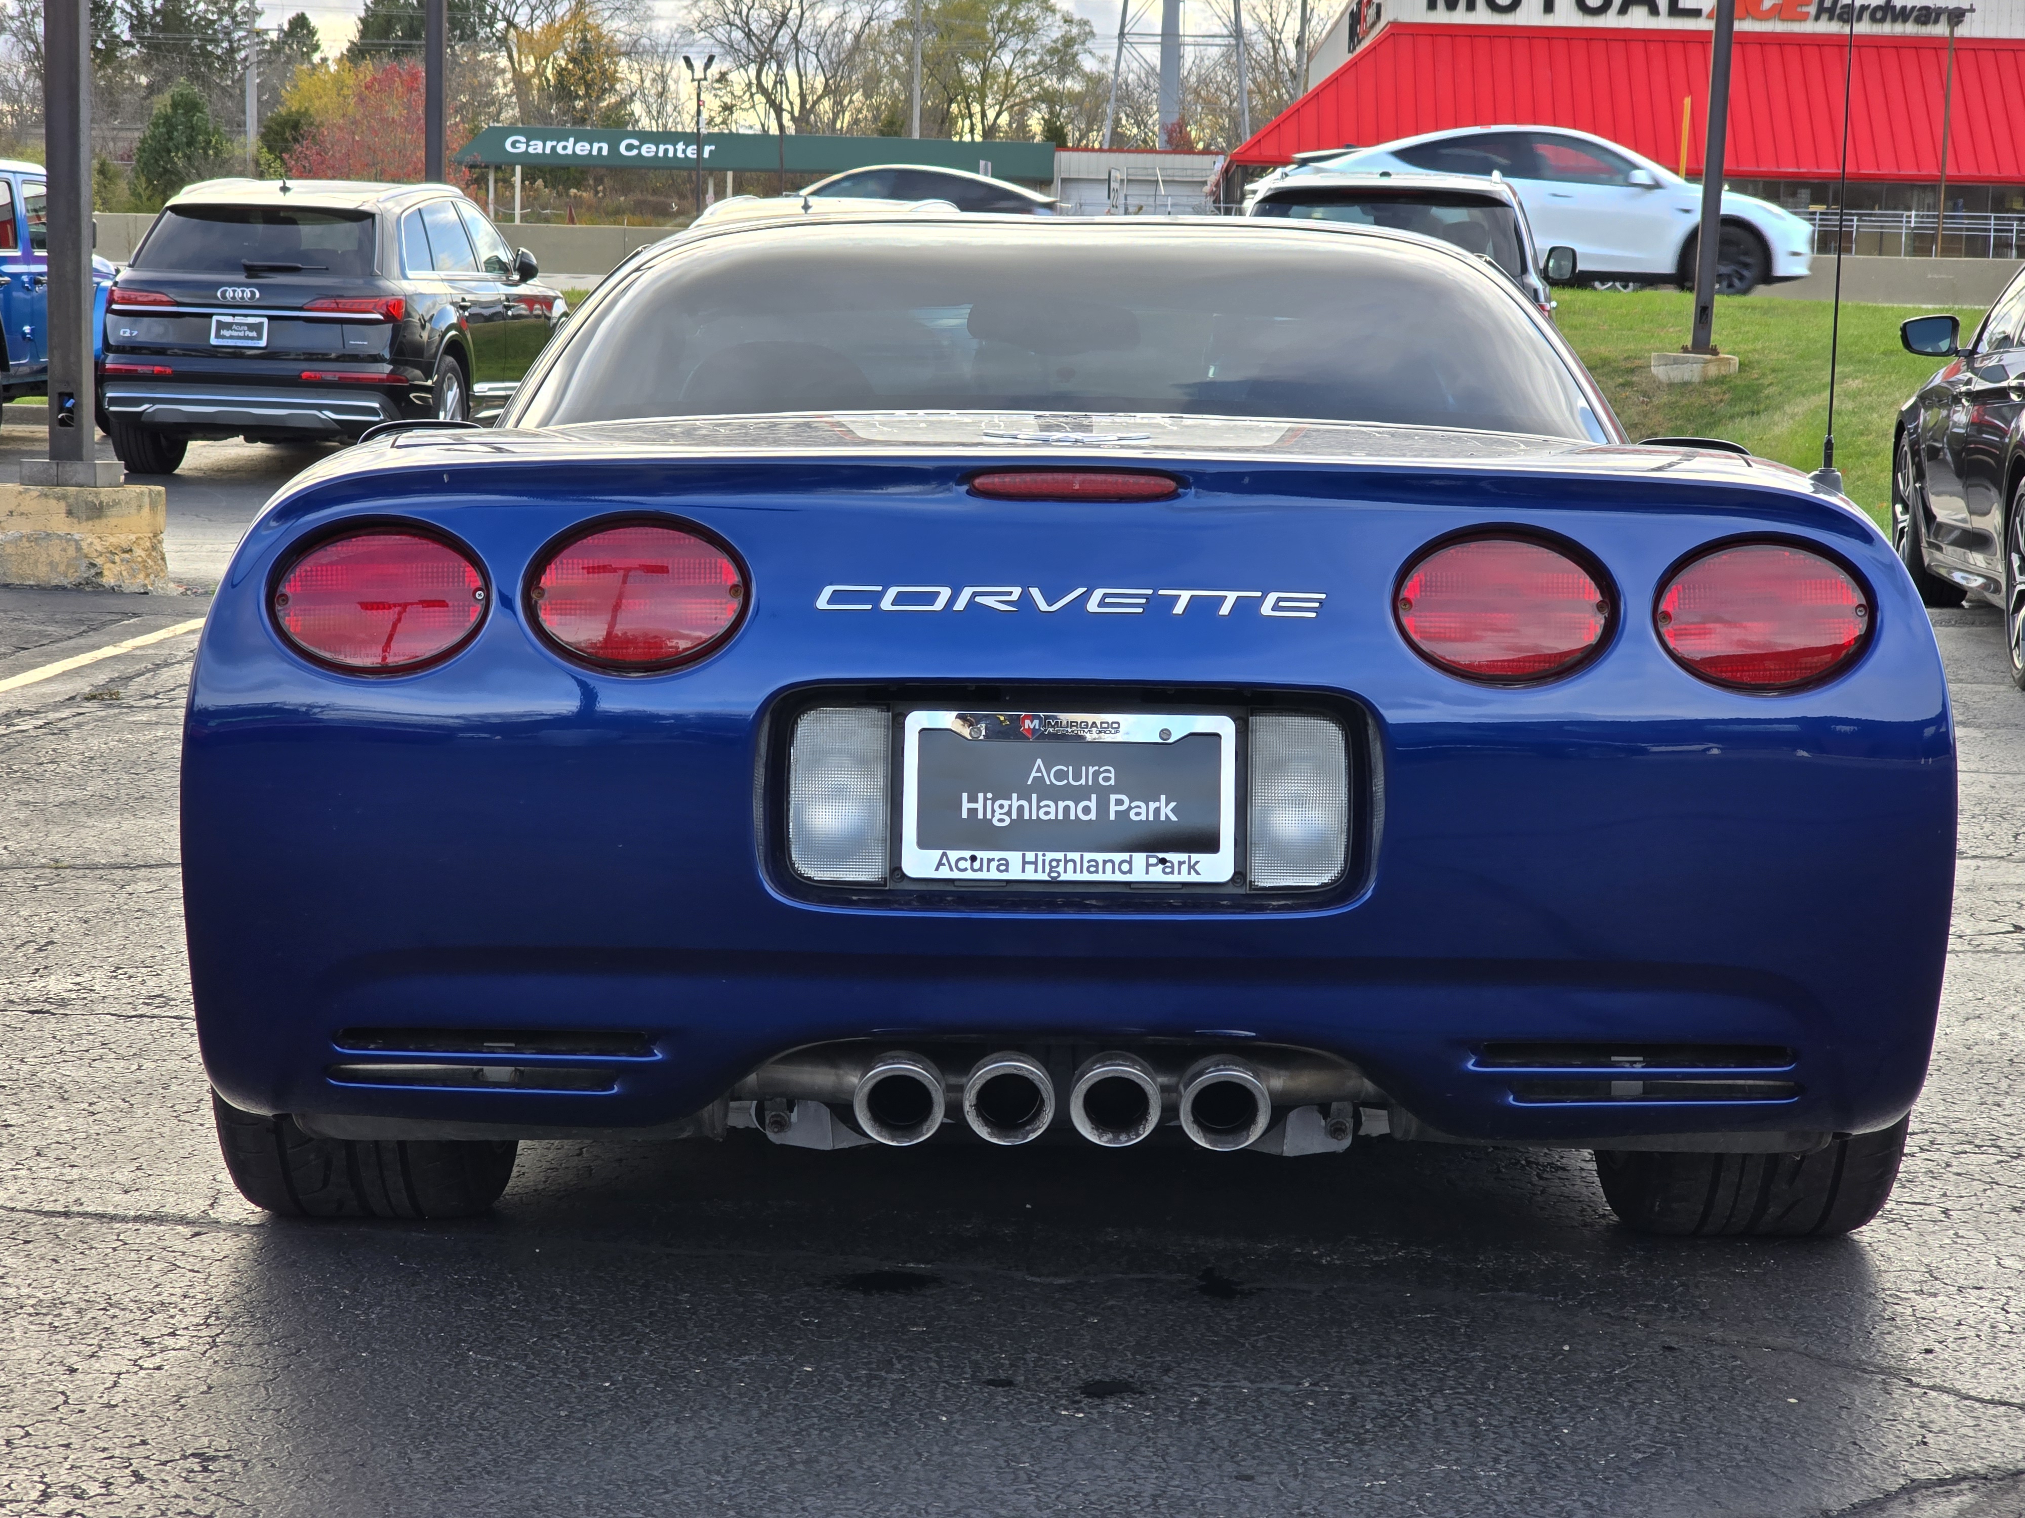
<svg viewBox="0 0 2025 1518"><path fill-rule="evenodd" d="M411 670L458 648L486 611L478 565L417 532L369 530L302 555L273 591L273 619L310 658Z"/></svg>

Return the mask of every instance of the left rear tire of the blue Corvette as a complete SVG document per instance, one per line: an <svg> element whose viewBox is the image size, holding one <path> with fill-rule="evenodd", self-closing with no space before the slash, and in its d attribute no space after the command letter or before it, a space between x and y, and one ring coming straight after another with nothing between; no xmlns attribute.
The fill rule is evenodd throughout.
<svg viewBox="0 0 2025 1518"><path fill-rule="evenodd" d="M322 1140L217 1091L211 1117L239 1194L292 1218L476 1216L506 1190L518 1150L512 1140Z"/></svg>

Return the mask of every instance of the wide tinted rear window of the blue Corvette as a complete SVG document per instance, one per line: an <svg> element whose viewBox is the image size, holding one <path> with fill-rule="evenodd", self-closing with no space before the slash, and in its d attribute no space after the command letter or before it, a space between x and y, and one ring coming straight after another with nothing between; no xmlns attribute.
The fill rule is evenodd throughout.
<svg viewBox="0 0 2025 1518"><path fill-rule="evenodd" d="M1480 267L1379 237L1033 227L699 241L593 302L510 421L1002 409L1598 435Z"/></svg>

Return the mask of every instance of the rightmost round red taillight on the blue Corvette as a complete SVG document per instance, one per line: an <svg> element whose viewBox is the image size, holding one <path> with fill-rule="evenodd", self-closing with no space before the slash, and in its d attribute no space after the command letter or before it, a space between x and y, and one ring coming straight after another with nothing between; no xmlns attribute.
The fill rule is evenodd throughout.
<svg viewBox="0 0 2025 1518"><path fill-rule="evenodd" d="M1784 542L1744 542L1687 565L1658 597L1660 642L1703 680L1792 690L1857 656L1871 599L1837 563Z"/></svg>

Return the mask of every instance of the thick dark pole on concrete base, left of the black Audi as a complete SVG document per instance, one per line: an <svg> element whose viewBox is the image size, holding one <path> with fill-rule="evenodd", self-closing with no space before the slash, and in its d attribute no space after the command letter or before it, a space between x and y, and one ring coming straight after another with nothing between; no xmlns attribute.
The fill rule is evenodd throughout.
<svg viewBox="0 0 2025 1518"><path fill-rule="evenodd" d="M117 486L99 463L91 374L91 0L43 6L43 119L49 158L49 457L22 459L26 486ZM26 245L26 243L24 243Z"/></svg>

